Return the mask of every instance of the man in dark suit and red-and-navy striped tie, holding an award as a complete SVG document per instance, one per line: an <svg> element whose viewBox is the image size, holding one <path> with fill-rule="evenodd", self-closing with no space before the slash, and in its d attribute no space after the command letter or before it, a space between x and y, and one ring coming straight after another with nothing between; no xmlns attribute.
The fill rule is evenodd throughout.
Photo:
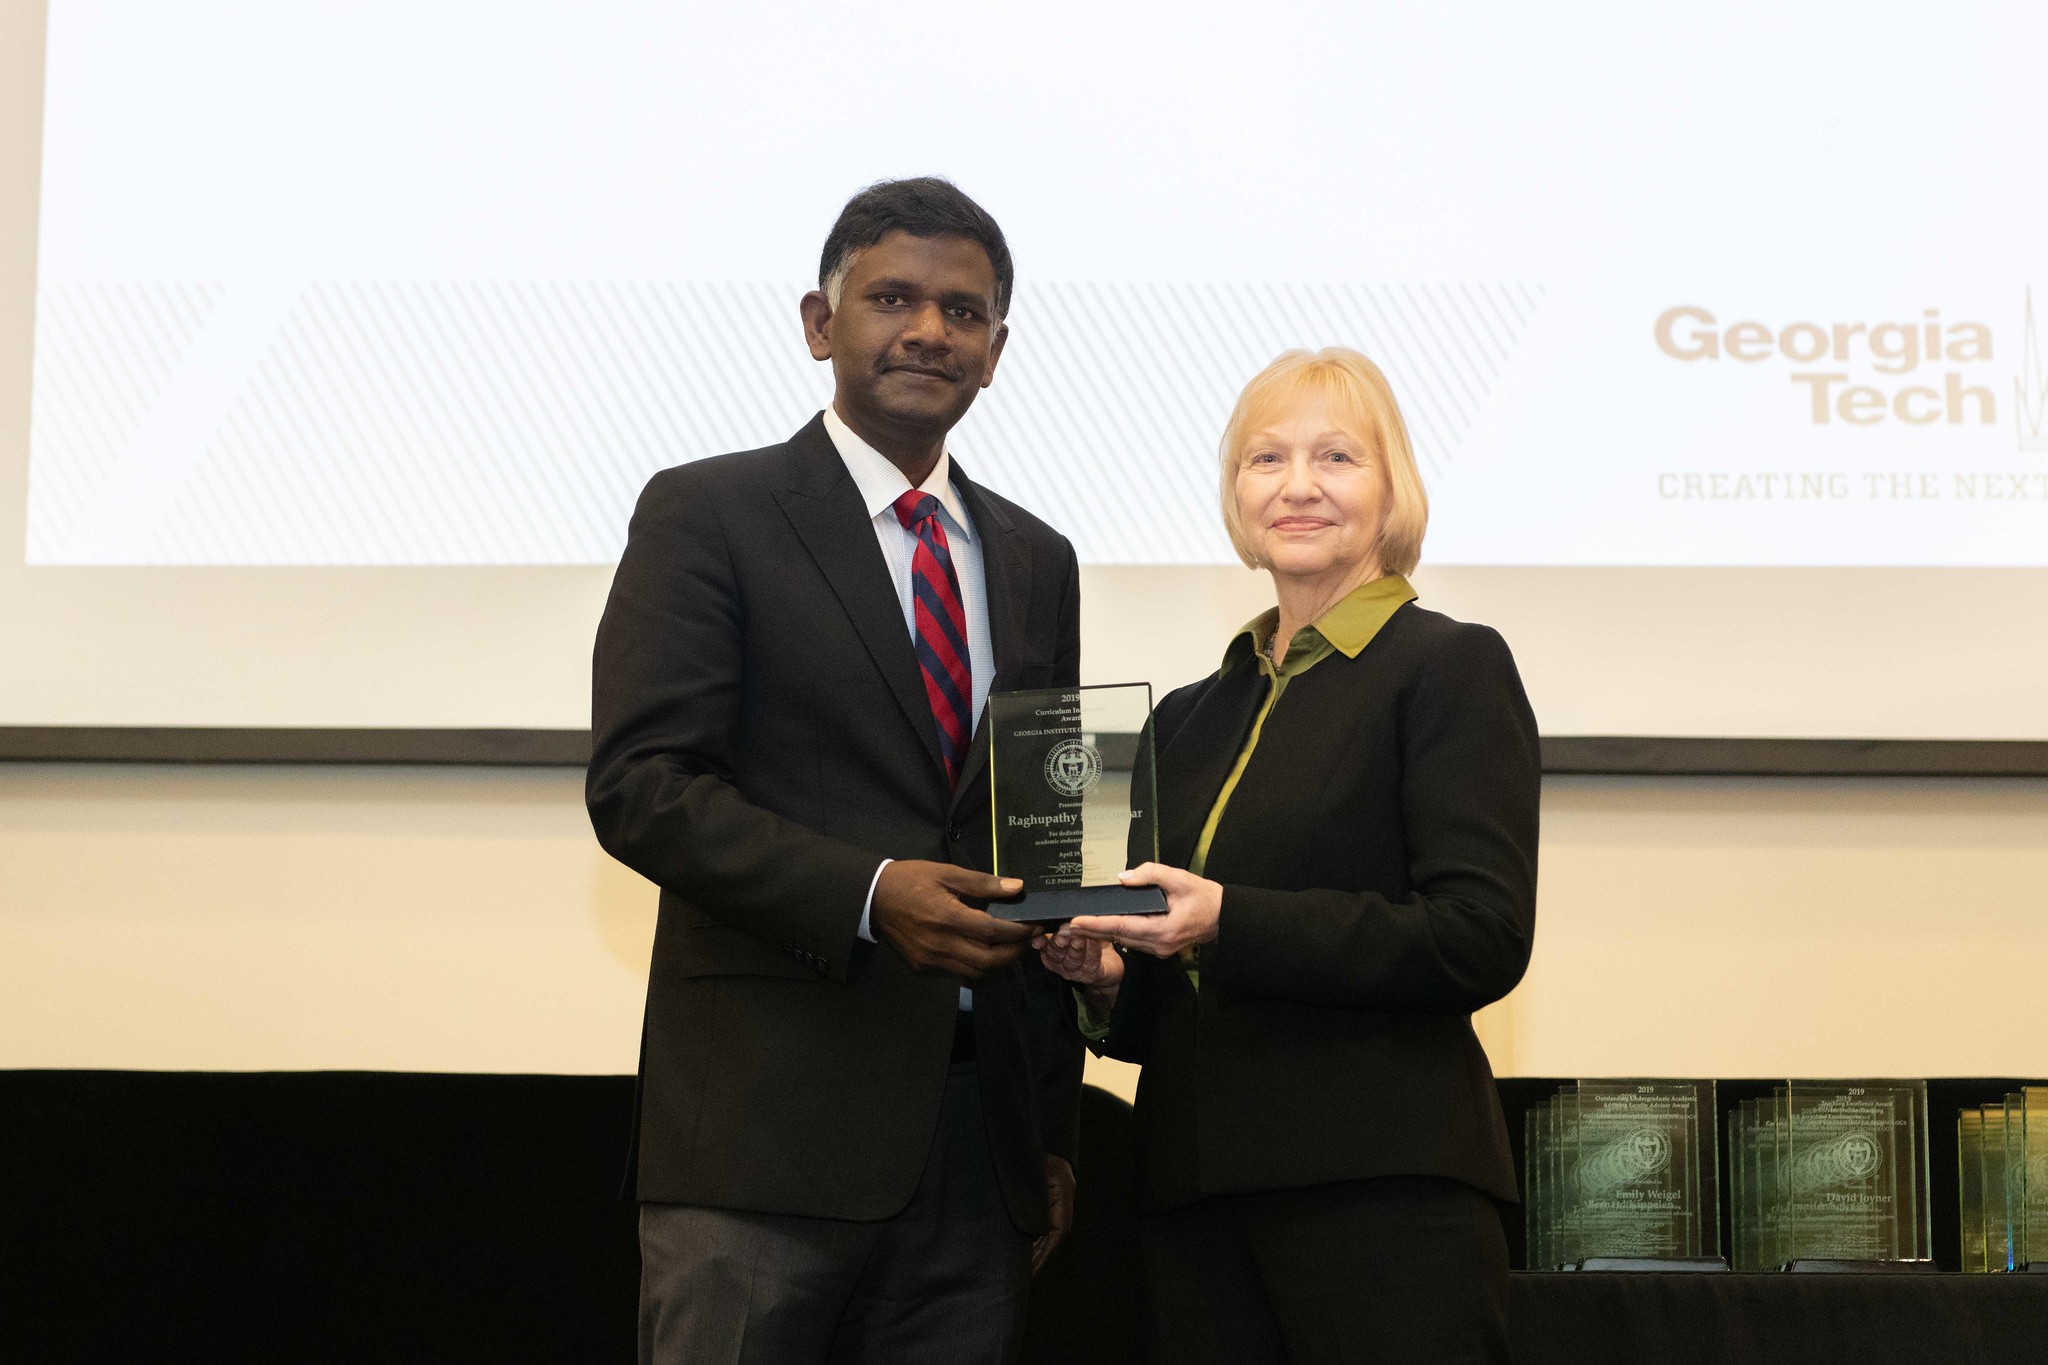
<svg viewBox="0 0 2048 1365"><path fill-rule="evenodd" d="M662 888L641 1361L1004 1361L1067 1226L1079 1036L981 909L979 718L1077 681L1077 567L946 450L1010 287L952 184L862 190L801 305L831 407L633 514L588 802Z"/></svg>

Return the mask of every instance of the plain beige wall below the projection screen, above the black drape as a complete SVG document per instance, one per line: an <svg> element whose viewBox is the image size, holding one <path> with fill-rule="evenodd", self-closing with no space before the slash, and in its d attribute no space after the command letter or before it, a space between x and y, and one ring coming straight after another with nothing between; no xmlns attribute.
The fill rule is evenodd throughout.
<svg viewBox="0 0 2048 1365"><path fill-rule="evenodd" d="M2044 782L1552 780L1483 1033L1520 1074L2048 1074L2044 888ZM629 1070L651 931L571 772L0 765L0 1066Z"/></svg>

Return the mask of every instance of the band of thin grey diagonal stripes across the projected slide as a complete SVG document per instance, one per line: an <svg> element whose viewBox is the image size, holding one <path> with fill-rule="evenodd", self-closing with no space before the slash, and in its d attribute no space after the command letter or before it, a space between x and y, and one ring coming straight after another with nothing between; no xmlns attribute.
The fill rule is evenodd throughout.
<svg viewBox="0 0 2048 1365"><path fill-rule="evenodd" d="M778 442L831 383L795 282L244 295L43 293L31 563L602 565L653 471ZM1217 436L1245 379L1356 346L1442 477L1538 303L1520 282L1026 282L954 448L1087 563L1227 563Z"/></svg>

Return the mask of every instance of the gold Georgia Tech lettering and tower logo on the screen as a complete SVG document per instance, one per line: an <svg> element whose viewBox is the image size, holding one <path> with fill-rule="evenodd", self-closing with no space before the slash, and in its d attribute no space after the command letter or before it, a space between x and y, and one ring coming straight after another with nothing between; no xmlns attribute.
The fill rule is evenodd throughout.
<svg viewBox="0 0 2048 1365"><path fill-rule="evenodd" d="M1911 321L1720 321L1706 307L1665 309L1657 350L1681 362L1780 364L1815 426L1997 426L1999 389L1991 327L1944 321L1923 309ZM2048 450L2048 370L2025 291L2013 426L2021 450Z"/></svg>

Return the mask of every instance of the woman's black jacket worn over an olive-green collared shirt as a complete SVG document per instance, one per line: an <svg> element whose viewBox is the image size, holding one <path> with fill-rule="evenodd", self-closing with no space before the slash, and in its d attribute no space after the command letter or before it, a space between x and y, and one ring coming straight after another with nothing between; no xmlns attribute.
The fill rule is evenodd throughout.
<svg viewBox="0 0 2048 1365"><path fill-rule="evenodd" d="M1266 681L1249 661L1159 702L1161 855L1186 866ZM1126 956L1104 1050L1141 1062L1157 1203L1374 1175L1516 1197L1470 1015L1536 929L1536 718L1501 636L1399 608L1266 718L1204 876L1200 993Z"/></svg>

